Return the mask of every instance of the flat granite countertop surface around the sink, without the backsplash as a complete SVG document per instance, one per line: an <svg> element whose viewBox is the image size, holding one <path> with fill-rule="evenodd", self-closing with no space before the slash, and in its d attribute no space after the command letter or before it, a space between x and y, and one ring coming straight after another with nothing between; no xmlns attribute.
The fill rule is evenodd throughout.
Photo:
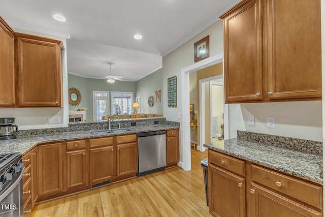
<svg viewBox="0 0 325 217"><path fill-rule="evenodd" d="M90 134L91 130L86 130L86 131L48 133L42 135L25 136L16 139L0 140L0 152L1 153L20 152L21 154L24 154L27 151L31 150L36 145L41 143L46 143L46 142L96 138L96 137L103 137L103 136L133 134L133 133L158 131L158 130L171 130L177 128L179 127L176 127L175 125L159 124L159 125L148 125L148 126L140 126L140 127L139 126L128 127L127 129L131 130L131 132L126 132L126 133L111 133L111 134L95 135L95 134Z"/></svg>

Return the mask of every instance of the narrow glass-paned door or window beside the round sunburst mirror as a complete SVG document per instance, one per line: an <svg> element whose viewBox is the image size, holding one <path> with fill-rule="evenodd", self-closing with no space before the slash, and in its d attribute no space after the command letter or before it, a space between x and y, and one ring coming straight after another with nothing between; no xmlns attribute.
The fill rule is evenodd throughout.
<svg viewBox="0 0 325 217"><path fill-rule="evenodd" d="M93 120L100 121L102 116L106 116L109 111L109 92L92 91L93 97Z"/></svg>

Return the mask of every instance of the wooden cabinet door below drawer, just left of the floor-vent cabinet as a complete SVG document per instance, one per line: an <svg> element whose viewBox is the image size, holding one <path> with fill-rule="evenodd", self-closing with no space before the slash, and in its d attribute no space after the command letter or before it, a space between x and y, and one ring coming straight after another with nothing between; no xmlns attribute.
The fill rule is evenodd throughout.
<svg viewBox="0 0 325 217"><path fill-rule="evenodd" d="M68 151L67 162L67 189L86 186L86 150Z"/></svg>

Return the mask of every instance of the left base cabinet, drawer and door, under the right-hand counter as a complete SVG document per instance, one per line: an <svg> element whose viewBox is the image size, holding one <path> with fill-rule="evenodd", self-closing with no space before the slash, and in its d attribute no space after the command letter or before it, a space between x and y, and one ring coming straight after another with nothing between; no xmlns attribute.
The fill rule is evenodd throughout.
<svg viewBox="0 0 325 217"><path fill-rule="evenodd" d="M245 162L208 150L209 212L213 216L246 216ZM239 174L238 174L239 173Z"/></svg>

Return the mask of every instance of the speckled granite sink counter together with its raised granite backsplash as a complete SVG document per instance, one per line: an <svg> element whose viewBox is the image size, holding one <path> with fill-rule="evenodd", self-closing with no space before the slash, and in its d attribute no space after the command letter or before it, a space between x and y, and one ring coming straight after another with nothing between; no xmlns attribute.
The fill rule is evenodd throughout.
<svg viewBox="0 0 325 217"><path fill-rule="evenodd" d="M132 120L132 122L134 121L135 120ZM154 121L154 120L150 120L150 121ZM16 139L0 140L0 153L20 152L24 154L27 151L31 150L36 145L41 143L46 143L46 142L95 138L95 137L103 137L103 136L132 134L132 133L141 133L141 132L158 131L158 130L171 130L171 129L179 128L178 122L166 121L166 119L165 120L159 119L159 124L153 124L153 123L151 124L150 121L146 122L146 124L144 124L143 121L140 123L137 121L137 126L134 127L132 127L131 124L125 125L123 127L126 127L127 129L131 130L131 132L114 133L114 134L94 135L90 133L91 131L94 130L107 129L107 122L106 123L91 122L91 123L80 123L80 124L76 123L72 126L70 125L69 128L28 130L28 131L21 132L21 134L23 134L24 136L20 135ZM76 131L76 129L82 129L82 130Z"/></svg>

